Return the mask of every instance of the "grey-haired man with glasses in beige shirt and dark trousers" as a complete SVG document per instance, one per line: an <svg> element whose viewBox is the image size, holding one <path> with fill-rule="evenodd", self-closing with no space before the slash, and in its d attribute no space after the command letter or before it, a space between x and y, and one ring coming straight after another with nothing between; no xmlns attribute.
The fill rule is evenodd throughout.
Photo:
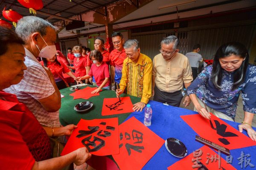
<svg viewBox="0 0 256 170"><path fill-rule="evenodd" d="M179 40L174 35L163 38L160 54L153 59L152 70L153 100L175 107L180 106L183 98L183 83L187 88L193 80L189 60L185 55L178 53L178 45ZM188 96L183 104L185 107L190 104Z"/></svg>

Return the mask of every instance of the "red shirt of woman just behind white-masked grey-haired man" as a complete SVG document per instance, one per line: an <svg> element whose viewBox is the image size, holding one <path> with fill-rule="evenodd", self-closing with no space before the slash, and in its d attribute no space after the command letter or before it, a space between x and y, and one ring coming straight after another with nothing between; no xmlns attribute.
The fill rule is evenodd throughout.
<svg viewBox="0 0 256 170"><path fill-rule="evenodd" d="M42 66L44 66L44 61L40 61L40 63L42 64ZM59 63L61 65L59 65L55 61L54 62L47 61L47 67L51 70L55 82L63 80L62 73L65 74L67 72L70 72L70 69L68 69L67 66L62 61L59 61ZM62 76L62 78L60 76Z"/></svg>

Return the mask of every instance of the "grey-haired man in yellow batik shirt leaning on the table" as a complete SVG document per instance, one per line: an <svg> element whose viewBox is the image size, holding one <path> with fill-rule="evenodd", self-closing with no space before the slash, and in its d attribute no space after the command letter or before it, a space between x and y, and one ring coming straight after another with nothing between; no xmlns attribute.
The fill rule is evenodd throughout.
<svg viewBox="0 0 256 170"><path fill-rule="evenodd" d="M128 58L123 62L120 89L116 89L116 95L118 97L127 87L128 95L141 98L133 107L134 111L141 112L151 97L152 61L140 53L138 40L127 40L124 49Z"/></svg>

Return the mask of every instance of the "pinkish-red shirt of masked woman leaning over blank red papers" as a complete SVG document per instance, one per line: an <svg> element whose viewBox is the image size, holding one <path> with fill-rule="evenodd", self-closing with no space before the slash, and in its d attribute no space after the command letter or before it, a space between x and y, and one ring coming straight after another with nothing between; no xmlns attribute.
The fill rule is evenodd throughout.
<svg viewBox="0 0 256 170"><path fill-rule="evenodd" d="M96 64L93 64L88 75L90 75L90 77L94 77L97 86L100 86L102 82L105 80L105 78L110 77L108 64L104 62L100 66L96 66ZM105 84L104 87L107 87L109 85L110 85L110 80Z"/></svg>

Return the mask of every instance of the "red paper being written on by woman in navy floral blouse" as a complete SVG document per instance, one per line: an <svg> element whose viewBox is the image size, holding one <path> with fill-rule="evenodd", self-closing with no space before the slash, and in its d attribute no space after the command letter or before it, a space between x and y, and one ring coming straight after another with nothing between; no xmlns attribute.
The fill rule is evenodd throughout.
<svg viewBox="0 0 256 170"><path fill-rule="evenodd" d="M229 150L250 147L256 142L240 133L229 124L211 114L211 120L203 118L201 115L180 116L195 132L202 138L226 147ZM241 142L243 141L243 142Z"/></svg>

